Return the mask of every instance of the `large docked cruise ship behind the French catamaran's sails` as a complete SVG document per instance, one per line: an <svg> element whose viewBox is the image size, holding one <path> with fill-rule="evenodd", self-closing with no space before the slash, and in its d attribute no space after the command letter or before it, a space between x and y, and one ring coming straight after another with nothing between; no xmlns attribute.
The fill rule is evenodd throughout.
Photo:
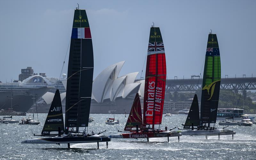
<svg viewBox="0 0 256 160"><path fill-rule="evenodd" d="M22 82L0 83L0 111L4 112L12 108L15 112L28 112L34 105L34 97L38 107L40 107L40 103L45 105L47 96L45 98L46 101L42 97L55 93L58 80L59 78L55 77L33 75ZM66 92L62 80L59 82L58 89L60 89L61 93Z"/></svg>

